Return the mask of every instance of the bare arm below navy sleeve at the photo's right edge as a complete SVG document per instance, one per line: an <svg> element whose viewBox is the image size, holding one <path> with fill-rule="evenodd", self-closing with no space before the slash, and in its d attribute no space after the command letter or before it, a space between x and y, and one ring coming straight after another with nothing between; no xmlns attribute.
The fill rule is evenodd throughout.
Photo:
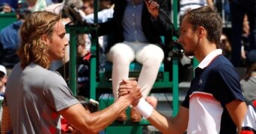
<svg viewBox="0 0 256 134"><path fill-rule="evenodd" d="M241 100L233 100L226 105L228 113L231 115L232 120L237 125L238 133L241 132L243 119L246 117L247 106Z"/></svg>

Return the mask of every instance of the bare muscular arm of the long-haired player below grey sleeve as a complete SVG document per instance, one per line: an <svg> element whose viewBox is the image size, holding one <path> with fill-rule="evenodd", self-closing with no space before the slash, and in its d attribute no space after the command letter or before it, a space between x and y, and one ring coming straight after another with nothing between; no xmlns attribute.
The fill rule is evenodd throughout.
<svg viewBox="0 0 256 134"><path fill-rule="evenodd" d="M76 130L86 133L98 133L115 121L115 118L129 106L129 103L125 97L121 97L111 106L99 112L90 113L80 103L59 112Z"/></svg>

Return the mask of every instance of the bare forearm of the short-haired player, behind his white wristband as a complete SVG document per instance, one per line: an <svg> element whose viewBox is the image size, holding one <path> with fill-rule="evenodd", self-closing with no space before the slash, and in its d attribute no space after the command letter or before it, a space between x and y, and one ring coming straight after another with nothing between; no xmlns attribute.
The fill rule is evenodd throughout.
<svg viewBox="0 0 256 134"><path fill-rule="evenodd" d="M162 133L184 133L189 121L189 109L180 106L179 113L174 118L166 117L153 110L147 120Z"/></svg>

